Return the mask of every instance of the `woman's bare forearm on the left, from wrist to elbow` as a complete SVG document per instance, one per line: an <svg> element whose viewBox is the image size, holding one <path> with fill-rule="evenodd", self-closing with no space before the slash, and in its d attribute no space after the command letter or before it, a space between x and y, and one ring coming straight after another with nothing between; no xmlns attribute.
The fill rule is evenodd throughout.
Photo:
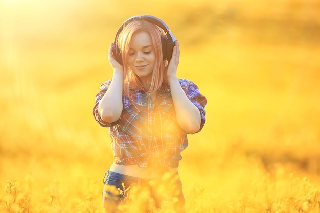
<svg viewBox="0 0 320 213"><path fill-rule="evenodd" d="M123 72L113 72L110 86L99 102L98 111L102 120L115 122L122 113Z"/></svg>

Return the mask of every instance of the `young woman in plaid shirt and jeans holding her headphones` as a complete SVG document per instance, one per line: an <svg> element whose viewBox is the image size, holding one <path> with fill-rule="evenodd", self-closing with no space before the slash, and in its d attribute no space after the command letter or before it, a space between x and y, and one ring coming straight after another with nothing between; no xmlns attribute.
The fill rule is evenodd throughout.
<svg viewBox="0 0 320 213"><path fill-rule="evenodd" d="M107 212L185 212L180 153L187 134L202 129L207 100L192 81L178 79L179 43L168 29L156 17L135 16L110 45L113 77L93 108L109 127L114 157L104 177Z"/></svg>

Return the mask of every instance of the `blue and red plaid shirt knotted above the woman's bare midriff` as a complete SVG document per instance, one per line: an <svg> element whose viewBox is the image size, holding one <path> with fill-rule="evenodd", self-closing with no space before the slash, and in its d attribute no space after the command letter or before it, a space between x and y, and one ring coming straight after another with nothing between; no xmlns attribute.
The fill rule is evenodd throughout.
<svg viewBox="0 0 320 213"><path fill-rule="evenodd" d="M114 162L123 165L137 164L140 168L146 168L151 162L158 167L178 167L182 158L180 153L188 146L188 138L176 121L169 84L163 84L158 89L155 101L146 95L144 88L130 89L132 100L123 93L122 114L118 121L108 123L101 119L98 104L110 82L111 80L103 82L100 86L93 115L101 126L109 127ZM179 79L179 83L200 111L201 130L205 123L204 107L207 99L193 82Z"/></svg>

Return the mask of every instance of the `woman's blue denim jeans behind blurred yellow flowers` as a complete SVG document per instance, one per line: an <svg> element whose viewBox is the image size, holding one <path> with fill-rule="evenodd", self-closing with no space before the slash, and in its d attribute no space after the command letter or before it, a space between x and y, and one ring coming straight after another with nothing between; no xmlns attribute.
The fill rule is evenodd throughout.
<svg viewBox="0 0 320 213"><path fill-rule="evenodd" d="M108 213L153 212L156 209L185 212L185 198L177 173L145 179L107 171L103 184L103 207Z"/></svg>

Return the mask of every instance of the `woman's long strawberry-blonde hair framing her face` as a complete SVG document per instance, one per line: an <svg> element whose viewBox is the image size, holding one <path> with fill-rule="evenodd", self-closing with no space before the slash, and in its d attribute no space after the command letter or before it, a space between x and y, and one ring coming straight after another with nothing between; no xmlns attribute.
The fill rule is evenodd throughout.
<svg viewBox="0 0 320 213"><path fill-rule="evenodd" d="M123 89L125 94L131 99L130 88L136 89L142 87L138 76L132 72L128 63L127 56L131 44L132 36L137 32L147 32L151 36L152 45L155 51L155 63L151 76L151 82L149 88L147 88L147 93L152 94L157 91L164 81L165 67L168 64L167 60L163 60L162 55L162 45L161 45L161 35L164 31L153 23L144 20L132 20L126 26L123 27L121 33L118 36L118 46L120 49L123 67L124 67L124 77L123 77Z"/></svg>

